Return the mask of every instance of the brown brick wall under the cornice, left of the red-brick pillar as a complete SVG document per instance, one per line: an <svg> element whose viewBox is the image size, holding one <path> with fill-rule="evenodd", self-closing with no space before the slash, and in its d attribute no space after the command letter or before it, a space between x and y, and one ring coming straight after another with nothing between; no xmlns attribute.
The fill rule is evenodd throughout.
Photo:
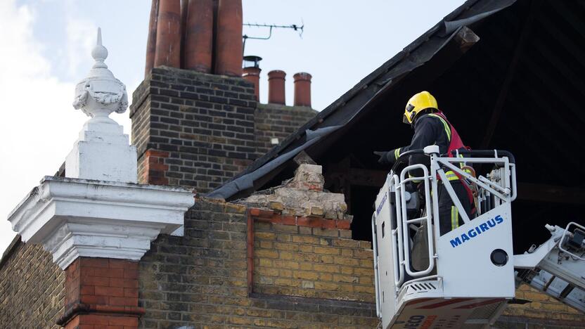
<svg viewBox="0 0 585 329"><path fill-rule="evenodd" d="M15 241L0 263L0 328L60 328L64 288L49 252Z"/></svg>

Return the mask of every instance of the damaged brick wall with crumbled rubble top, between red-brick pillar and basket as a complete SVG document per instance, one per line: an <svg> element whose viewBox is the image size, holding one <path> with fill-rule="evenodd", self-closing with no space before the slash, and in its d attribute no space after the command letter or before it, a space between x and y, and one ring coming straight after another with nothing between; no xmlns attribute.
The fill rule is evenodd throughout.
<svg viewBox="0 0 585 329"><path fill-rule="evenodd" d="M140 262L141 328L378 325L371 244L351 240L343 195L323 191L321 167L302 164L259 195L199 198L184 237L153 243Z"/></svg>

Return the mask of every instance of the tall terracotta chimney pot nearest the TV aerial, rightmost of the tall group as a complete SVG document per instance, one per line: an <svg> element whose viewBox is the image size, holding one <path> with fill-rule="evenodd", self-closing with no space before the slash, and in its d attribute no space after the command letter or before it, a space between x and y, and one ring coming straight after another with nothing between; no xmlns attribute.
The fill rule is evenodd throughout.
<svg viewBox="0 0 585 329"><path fill-rule="evenodd" d="M242 24L242 0L219 0L215 74L242 75Z"/></svg>

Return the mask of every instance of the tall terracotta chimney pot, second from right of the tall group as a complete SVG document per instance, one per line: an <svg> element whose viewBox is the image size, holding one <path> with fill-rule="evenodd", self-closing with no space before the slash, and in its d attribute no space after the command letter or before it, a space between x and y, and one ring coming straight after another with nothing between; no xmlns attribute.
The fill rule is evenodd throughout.
<svg viewBox="0 0 585 329"><path fill-rule="evenodd" d="M184 68L210 73L213 49L213 1L189 0L186 15Z"/></svg>

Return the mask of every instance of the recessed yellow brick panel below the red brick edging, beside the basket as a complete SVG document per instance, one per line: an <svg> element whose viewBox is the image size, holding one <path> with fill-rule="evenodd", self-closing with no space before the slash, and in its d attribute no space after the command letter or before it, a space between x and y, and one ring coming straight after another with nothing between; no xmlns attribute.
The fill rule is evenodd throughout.
<svg viewBox="0 0 585 329"><path fill-rule="evenodd" d="M371 243L345 232L255 223L253 291L375 302Z"/></svg>

